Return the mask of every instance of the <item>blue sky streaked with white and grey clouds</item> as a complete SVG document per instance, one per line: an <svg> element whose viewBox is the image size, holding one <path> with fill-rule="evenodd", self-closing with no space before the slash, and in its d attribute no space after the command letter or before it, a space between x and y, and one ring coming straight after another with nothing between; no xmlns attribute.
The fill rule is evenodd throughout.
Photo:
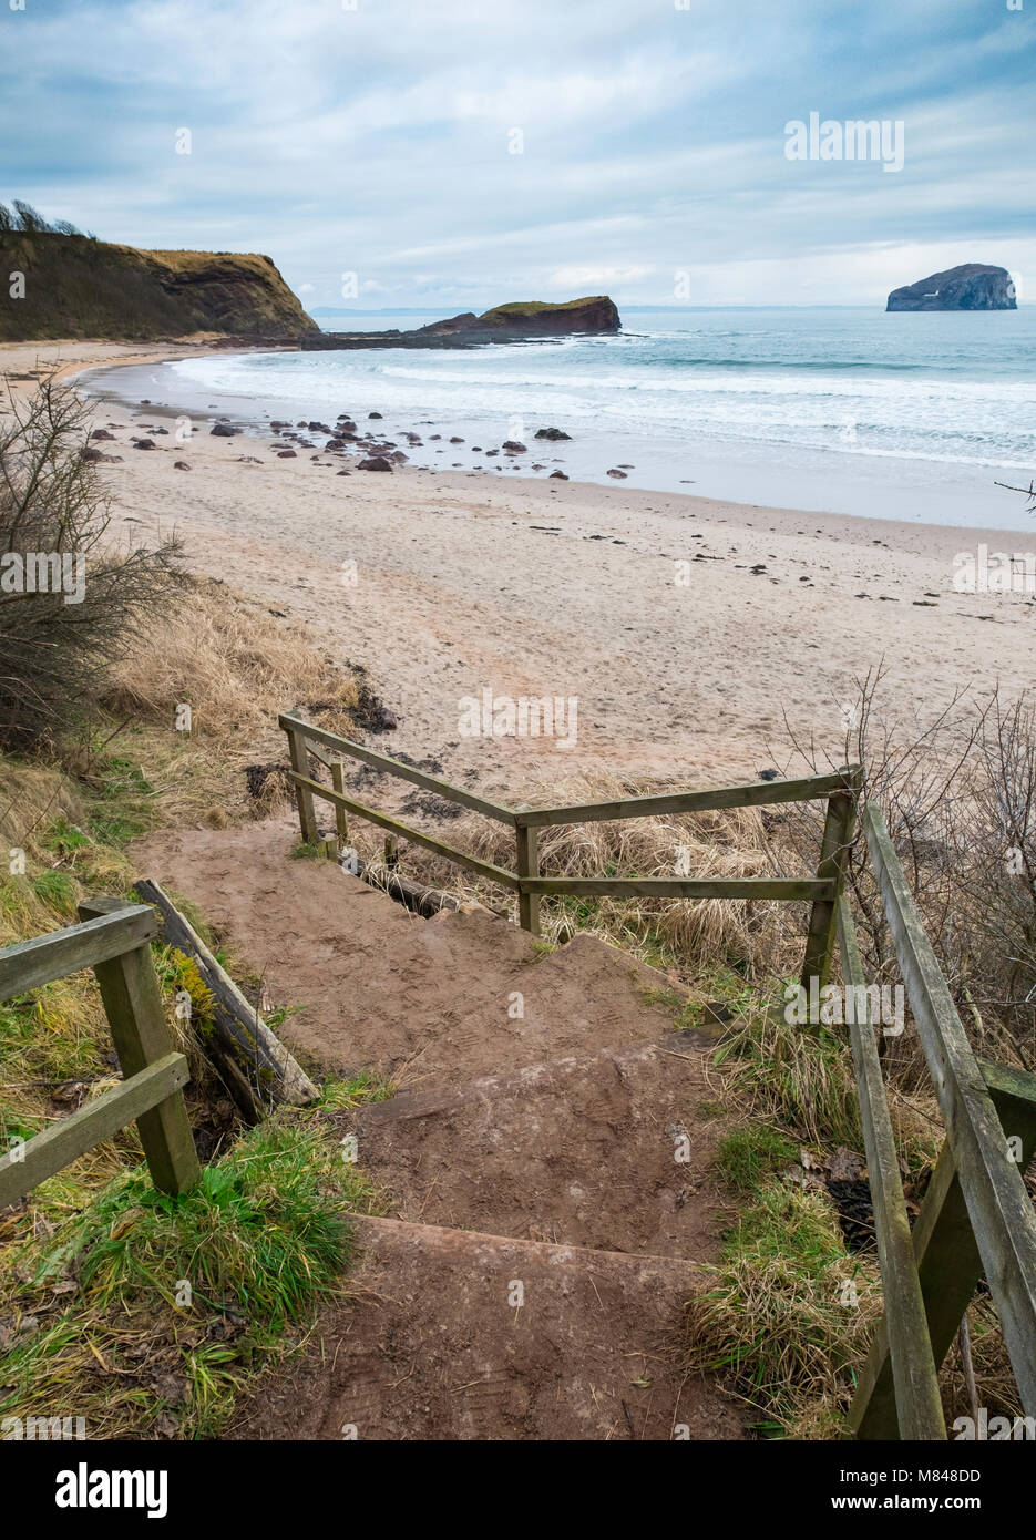
<svg viewBox="0 0 1036 1540"><path fill-rule="evenodd" d="M308 306L1031 300L1034 65L1036 0L0 0L0 199ZM790 160L811 112L902 169Z"/></svg>

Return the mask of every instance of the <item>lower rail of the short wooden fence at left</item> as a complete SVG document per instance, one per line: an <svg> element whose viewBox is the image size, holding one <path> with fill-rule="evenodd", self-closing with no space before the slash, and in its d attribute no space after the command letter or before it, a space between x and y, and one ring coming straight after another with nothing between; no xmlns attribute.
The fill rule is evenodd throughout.
<svg viewBox="0 0 1036 1540"><path fill-rule="evenodd" d="M17 1203L48 1177L112 1138L128 1123L135 1123L142 1113L186 1086L189 1078L191 1069L183 1053L166 1053L140 1073L102 1092L79 1112L26 1140L20 1149L2 1155L0 1209Z"/></svg>

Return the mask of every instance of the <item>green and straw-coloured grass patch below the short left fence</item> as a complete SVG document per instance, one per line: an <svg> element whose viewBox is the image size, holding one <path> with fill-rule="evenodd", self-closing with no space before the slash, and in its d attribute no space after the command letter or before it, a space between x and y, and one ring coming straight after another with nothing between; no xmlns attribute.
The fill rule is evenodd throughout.
<svg viewBox="0 0 1036 1540"><path fill-rule="evenodd" d="M74 1411L91 1438L214 1435L248 1374L342 1287L357 1209L380 1203L312 1115L249 1130L180 1198L146 1167L122 1175L20 1252L0 1417Z"/></svg>

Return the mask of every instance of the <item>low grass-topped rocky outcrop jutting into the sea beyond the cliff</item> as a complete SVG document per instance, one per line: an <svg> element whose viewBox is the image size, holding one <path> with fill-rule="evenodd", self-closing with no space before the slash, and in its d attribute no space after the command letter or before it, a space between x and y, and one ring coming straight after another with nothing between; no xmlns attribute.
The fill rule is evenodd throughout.
<svg viewBox="0 0 1036 1540"><path fill-rule="evenodd" d="M486 342L533 342L546 337L608 336L622 328L619 311L607 294L570 299L560 305L516 300L496 305L482 316L465 311L434 320L414 331L308 331L303 351L336 348L477 348Z"/></svg>

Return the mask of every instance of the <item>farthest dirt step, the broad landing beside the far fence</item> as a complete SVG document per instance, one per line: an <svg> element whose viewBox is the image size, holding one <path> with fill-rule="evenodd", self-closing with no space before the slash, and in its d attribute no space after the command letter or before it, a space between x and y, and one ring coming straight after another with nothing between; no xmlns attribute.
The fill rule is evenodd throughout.
<svg viewBox="0 0 1036 1540"><path fill-rule="evenodd" d="M303 1007L282 1035L299 1058L414 1087L550 1058L657 1041L665 979L579 935L543 955L488 910L422 919L333 862L292 861L286 824L157 835L139 875L192 899L276 1004ZM520 1013L517 1013L520 1012Z"/></svg>

